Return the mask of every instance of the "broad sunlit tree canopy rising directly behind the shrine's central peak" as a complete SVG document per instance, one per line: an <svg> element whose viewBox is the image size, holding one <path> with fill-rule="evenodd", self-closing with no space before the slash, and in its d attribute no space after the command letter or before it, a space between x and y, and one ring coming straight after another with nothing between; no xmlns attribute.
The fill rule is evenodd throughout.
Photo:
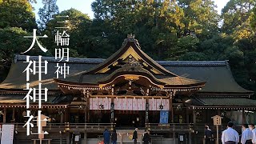
<svg viewBox="0 0 256 144"><path fill-rule="evenodd" d="M179 38L185 40L182 37L195 34L199 41L218 32L219 17L211 0L96 0L92 10L95 19L108 27L108 32L102 29L106 38L113 41L110 35L117 34L114 42L120 42L126 34L134 33L142 49L154 59L178 59L187 49L196 49L197 45L177 46Z"/></svg>

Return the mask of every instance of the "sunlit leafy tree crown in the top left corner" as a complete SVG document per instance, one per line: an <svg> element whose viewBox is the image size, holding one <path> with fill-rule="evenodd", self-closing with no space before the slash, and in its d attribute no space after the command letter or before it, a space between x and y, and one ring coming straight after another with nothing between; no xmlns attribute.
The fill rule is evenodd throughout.
<svg viewBox="0 0 256 144"><path fill-rule="evenodd" d="M32 6L27 0L0 0L0 28L21 27L33 31L37 27Z"/></svg>

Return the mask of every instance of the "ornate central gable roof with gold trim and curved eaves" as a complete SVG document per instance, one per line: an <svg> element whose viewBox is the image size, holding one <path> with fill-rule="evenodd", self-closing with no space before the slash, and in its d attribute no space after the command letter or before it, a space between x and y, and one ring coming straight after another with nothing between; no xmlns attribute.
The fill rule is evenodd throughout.
<svg viewBox="0 0 256 144"><path fill-rule="evenodd" d="M88 81L88 77L86 77L87 75L97 77L98 74L101 76L105 74L105 76L97 81L95 78L95 82L91 83ZM186 90L199 90L205 84L205 82L198 80L182 78L170 70L166 70L166 68L159 65L158 62L155 62L141 50L138 41L133 36L126 38L121 49L111 55L110 58L82 73L78 82L70 82L63 78L54 80L64 87L70 86L71 83L73 85L72 88L75 88L74 85L81 88L81 86L91 86L96 83L102 89L102 86L106 87L117 84L115 82L129 82L126 77L130 74L138 76L136 82L145 81L146 79L143 78L146 77L146 81L151 84L147 86L157 86L157 88L161 89L178 88L180 90L186 88ZM158 79L157 76L162 76L162 78ZM119 79L118 81L116 81L117 78Z"/></svg>

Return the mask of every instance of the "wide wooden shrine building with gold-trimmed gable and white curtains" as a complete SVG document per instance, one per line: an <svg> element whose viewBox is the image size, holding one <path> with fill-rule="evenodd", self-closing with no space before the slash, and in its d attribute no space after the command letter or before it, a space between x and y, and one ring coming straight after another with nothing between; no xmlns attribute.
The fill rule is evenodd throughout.
<svg viewBox="0 0 256 144"><path fill-rule="evenodd" d="M56 78L57 60L42 59L49 62L48 74L42 74L42 87L49 90L42 114L49 117L44 130L50 133L45 138L52 144L78 139L95 143L105 129L116 129L118 142L132 142L135 127L139 142L148 129L154 143L161 138L163 143L183 140L190 144L202 142L203 126L214 130L211 117L216 114L223 117L222 130L229 121L238 130L242 123L256 122L256 101L250 99L254 92L238 86L227 61L154 61L132 35L106 60L70 58L67 78ZM25 61L25 55L16 55L0 84L0 122L14 124L14 143L38 138L26 136L22 127L27 120L22 100L27 93L26 73L22 73ZM30 75L30 86L38 86L37 75ZM31 102L30 110L36 115L38 103Z"/></svg>

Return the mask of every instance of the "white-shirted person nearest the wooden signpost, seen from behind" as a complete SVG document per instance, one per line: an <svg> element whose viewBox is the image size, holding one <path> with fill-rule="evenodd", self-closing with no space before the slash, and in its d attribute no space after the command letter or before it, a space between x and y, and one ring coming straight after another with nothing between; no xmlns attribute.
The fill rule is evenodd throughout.
<svg viewBox="0 0 256 144"><path fill-rule="evenodd" d="M222 144L238 144L239 135L233 126L233 122L227 123L227 129L222 132Z"/></svg>

